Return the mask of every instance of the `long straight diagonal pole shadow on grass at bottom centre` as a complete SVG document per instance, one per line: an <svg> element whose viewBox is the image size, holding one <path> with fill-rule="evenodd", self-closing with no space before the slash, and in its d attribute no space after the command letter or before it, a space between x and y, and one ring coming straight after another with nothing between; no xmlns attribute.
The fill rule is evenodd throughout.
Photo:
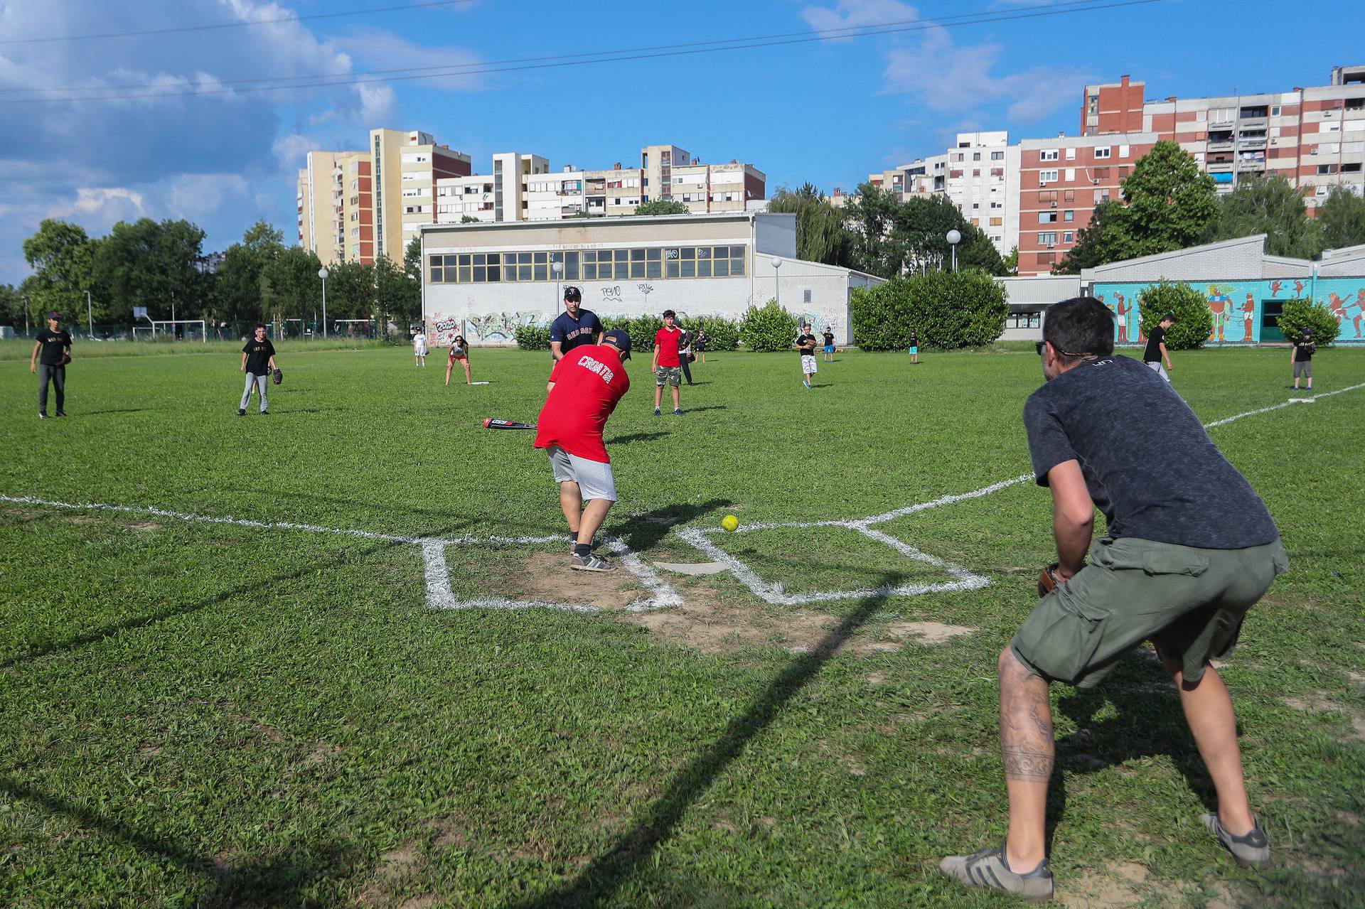
<svg viewBox="0 0 1365 909"><path fill-rule="evenodd" d="M523 902L520 909L595 906L610 902L621 884L651 864L658 848L673 837L682 815L744 752L749 740L762 734L782 714L788 702L819 676L830 656L852 637L853 632L867 624L885 602L885 596L863 601L819 644L793 659L768 682L748 710L732 719L721 737L693 758L673 778L662 796L636 815L632 827L621 834L612 849L592 860L572 883Z"/></svg>

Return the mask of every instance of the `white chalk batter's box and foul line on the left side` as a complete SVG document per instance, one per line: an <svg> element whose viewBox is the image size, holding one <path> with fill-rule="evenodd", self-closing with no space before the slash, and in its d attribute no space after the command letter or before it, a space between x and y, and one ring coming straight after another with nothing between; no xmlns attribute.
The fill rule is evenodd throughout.
<svg viewBox="0 0 1365 909"><path fill-rule="evenodd" d="M233 527L251 527L257 530L303 531L308 534L330 534L333 536L351 536L356 539L373 539L388 543L404 543L416 546L422 551L423 571L426 577L426 599L433 609L558 609L576 613L599 611L597 606L576 606L572 603L549 603L543 601L520 601L500 596L476 596L460 599L450 587L450 568L445 553L450 546L546 546L564 545L564 534L553 536L400 536L396 534L377 534L373 531L348 530L343 527L321 527L318 524L299 524L295 521L258 521L246 517L197 515L192 512L175 512L165 508L142 505L109 505L105 502L59 502L37 495L3 495L0 502L16 505L38 505L44 508L64 508L81 512L117 512L121 515L152 515L168 520L190 521L198 524L231 524ZM640 584L650 591L648 596L636 599L624 607L625 611L646 613L657 609L667 609L682 603L682 598L665 581L657 571L646 565L644 561L622 540L612 536L603 540L605 545L618 557L621 564L635 575ZM565 554L566 556L566 554Z"/></svg>

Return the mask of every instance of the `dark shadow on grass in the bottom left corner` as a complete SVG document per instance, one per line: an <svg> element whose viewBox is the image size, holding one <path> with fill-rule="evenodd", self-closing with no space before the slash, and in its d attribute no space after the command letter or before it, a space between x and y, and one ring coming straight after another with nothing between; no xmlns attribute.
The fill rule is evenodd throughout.
<svg viewBox="0 0 1365 909"><path fill-rule="evenodd" d="M303 906L308 905L319 878L328 874L344 878L358 865L355 843L339 841L284 856L262 857L243 865L231 865L191 852L169 838L138 831L86 805L41 793L10 779L0 779L0 792L19 801L40 805L49 813L70 818L101 837L127 843L143 853L161 856L184 871L206 878L210 882L207 894L197 905Z"/></svg>

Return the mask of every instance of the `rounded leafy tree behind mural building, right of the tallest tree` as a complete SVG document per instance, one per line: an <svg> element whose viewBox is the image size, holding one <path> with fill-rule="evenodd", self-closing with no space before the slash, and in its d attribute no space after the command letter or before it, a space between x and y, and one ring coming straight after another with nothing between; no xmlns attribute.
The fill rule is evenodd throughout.
<svg viewBox="0 0 1365 909"><path fill-rule="evenodd" d="M1308 217L1304 194L1282 176L1245 177L1218 199L1204 242L1265 233L1265 251L1308 259L1323 251L1321 224Z"/></svg>

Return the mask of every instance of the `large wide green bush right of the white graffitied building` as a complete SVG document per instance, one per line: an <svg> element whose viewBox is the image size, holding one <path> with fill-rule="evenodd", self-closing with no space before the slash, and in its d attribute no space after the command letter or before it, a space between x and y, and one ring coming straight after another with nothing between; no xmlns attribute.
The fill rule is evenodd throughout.
<svg viewBox="0 0 1365 909"><path fill-rule="evenodd" d="M853 343L864 351L986 347L1005 332L1005 288L979 269L925 272L857 288L849 302Z"/></svg>

